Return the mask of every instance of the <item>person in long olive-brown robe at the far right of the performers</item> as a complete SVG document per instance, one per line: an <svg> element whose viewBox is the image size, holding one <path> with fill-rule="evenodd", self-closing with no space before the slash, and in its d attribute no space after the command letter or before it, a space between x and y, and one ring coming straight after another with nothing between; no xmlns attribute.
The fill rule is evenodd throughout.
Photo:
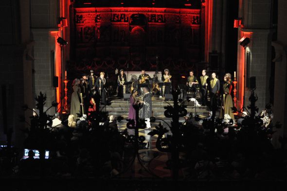
<svg viewBox="0 0 287 191"><path fill-rule="evenodd" d="M229 114L229 116L234 120L234 114L232 112L233 101L231 96L232 84L229 75L224 76L224 84L223 84L223 98L220 108L219 118L222 119L225 114Z"/></svg>

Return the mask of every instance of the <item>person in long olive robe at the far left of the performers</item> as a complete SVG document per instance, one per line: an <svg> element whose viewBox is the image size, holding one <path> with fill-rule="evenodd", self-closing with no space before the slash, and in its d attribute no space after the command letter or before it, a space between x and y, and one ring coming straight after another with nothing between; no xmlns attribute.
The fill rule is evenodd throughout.
<svg viewBox="0 0 287 191"><path fill-rule="evenodd" d="M71 107L70 107L70 114L74 115L76 119L79 119L78 115L81 115L81 88L79 87L80 80L75 79L73 80L72 87L73 93L71 97Z"/></svg>

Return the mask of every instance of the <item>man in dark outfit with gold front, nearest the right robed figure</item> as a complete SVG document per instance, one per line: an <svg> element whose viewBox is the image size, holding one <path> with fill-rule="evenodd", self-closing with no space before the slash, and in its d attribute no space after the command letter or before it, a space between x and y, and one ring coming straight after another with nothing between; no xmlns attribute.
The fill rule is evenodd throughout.
<svg viewBox="0 0 287 191"><path fill-rule="evenodd" d="M212 73L211 75L211 80L210 80L210 101L211 101L211 108L213 111L216 111L217 109L217 101L216 97L219 95L219 90L220 90L220 82L216 78L216 74Z"/></svg>

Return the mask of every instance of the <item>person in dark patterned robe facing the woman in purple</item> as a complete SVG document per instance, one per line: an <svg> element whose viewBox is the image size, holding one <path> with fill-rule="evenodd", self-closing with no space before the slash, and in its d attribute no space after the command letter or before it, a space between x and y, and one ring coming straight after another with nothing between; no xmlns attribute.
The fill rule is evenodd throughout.
<svg viewBox="0 0 287 191"><path fill-rule="evenodd" d="M143 100L140 101L143 104L142 109L140 110L139 117L145 119L146 128L151 128L150 126L150 117L152 115L152 104L151 104L151 93L149 93L148 87L143 88Z"/></svg>

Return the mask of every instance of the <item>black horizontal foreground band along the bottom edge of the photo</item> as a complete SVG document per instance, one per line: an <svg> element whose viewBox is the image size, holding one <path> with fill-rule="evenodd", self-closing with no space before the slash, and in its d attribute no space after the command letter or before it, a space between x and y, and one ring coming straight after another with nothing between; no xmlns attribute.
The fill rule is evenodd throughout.
<svg viewBox="0 0 287 191"><path fill-rule="evenodd" d="M92 177L0 178L1 191L283 191L283 180L99 179Z"/></svg>

